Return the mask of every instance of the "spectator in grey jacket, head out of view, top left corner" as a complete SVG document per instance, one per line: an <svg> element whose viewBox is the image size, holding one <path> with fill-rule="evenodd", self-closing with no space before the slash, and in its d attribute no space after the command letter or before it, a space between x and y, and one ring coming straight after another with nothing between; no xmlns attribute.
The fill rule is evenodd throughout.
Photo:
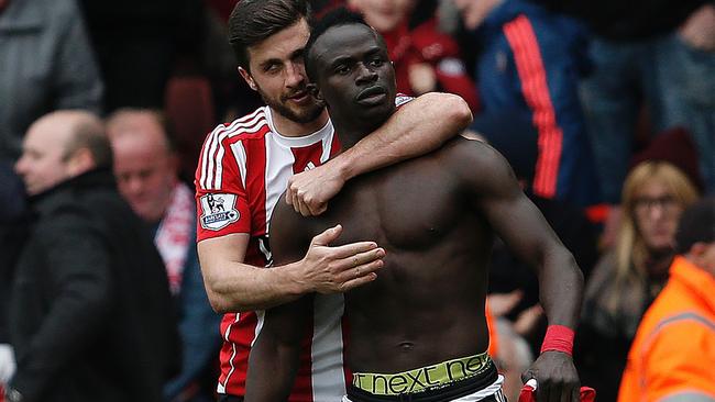
<svg viewBox="0 0 715 402"><path fill-rule="evenodd" d="M18 160L35 119L99 112L102 83L75 0L0 0L0 160Z"/></svg>

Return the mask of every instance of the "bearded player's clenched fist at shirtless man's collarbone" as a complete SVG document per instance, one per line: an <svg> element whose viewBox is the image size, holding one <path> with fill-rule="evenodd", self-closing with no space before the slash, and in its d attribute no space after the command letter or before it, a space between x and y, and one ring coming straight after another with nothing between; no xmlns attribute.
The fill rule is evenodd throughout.
<svg viewBox="0 0 715 402"><path fill-rule="evenodd" d="M328 163L293 176L288 180L286 202L304 216L319 215L344 185L340 170Z"/></svg>

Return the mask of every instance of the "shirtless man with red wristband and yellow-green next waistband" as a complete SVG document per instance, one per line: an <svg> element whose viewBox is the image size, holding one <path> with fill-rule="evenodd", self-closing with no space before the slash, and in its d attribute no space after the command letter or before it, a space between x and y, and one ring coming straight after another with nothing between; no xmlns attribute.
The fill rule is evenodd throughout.
<svg viewBox="0 0 715 402"><path fill-rule="evenodd" d="M326 16L305 51L316 97L328 103L344 147L396 111L384 42L358 14ZM340 223L342 242L375 239L386 252L371 283L345 297L343 401L502 401L484 317L495 235L537 268L549 319L542 354L525 373L538 401L578 401L570 356L583 277L493 148L457 137L432 154L349 182L311 219L282 203L273 214L276 264L299 258L311 236ZM353 270L360 276L361 268ZM283 401L293 383L310 295L272 309L250 357L246 401Z"/></svg>

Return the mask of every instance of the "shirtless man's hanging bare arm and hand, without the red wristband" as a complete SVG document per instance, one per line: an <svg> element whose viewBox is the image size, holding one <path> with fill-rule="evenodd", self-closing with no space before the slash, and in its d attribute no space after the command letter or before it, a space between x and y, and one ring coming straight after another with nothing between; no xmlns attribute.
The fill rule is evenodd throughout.
<svg viewBox="0 0 715 402"><path fill-rule="evenodd" d="M517 257L536 267L549 325L573 334L583 288L575 259L524 194L501 154L476 141L459 138L455 144L447 163L461 178L473 206ZM579 401L579 377L570 353L543 351L525 377L537 379L539 401Z"/></svg>

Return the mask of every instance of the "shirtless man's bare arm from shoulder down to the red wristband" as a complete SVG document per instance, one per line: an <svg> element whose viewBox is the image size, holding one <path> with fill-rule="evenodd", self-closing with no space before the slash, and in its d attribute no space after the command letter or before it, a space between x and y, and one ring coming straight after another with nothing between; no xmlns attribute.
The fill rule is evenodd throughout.
<svg viewBox="0 0 715 402"><path fill-rule="evenodd" d="M573 256L524 194L506 159L488 145L476 141L470 144L475 149L461 146L451 163L464 176L475 208L485 214L509 249L536 268L549 324L575 328L583 276Z"/></svg>

